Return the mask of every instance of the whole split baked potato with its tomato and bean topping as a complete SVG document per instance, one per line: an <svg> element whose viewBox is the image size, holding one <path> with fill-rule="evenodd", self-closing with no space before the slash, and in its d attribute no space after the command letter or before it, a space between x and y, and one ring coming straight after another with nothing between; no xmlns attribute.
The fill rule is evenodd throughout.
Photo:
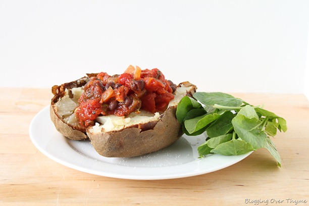
<svg viewBox="0 0 309 206"><path fill-rule="evenodd" d="M54 86L50 117L57 130L73 140L89 138L104 157L137 157L175 142L183 134L175 115L178 102L185 95L192 96L196 86L189 82L176 86L165 80L158 69L130 66L124 74L87 74L74 82ZM165 90L153 89L153 82L159 82ZM117 84L127 85L128 91ZM155 97L151 98L150 93L155 93ZM86 109L89 111L85 112ZM85 118L87 115L90 119Z"/></svg>

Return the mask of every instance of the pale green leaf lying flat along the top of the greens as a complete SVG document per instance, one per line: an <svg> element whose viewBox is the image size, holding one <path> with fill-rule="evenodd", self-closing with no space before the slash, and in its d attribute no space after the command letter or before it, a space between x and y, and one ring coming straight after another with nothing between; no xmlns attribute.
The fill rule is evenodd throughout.
<svg viewBox="0 0 309 206"><path fill-rule="evenodd" d="M239 107L242 100L222 92L196 92L193 97L207 106L221 105L226 107Z"/></svg>

